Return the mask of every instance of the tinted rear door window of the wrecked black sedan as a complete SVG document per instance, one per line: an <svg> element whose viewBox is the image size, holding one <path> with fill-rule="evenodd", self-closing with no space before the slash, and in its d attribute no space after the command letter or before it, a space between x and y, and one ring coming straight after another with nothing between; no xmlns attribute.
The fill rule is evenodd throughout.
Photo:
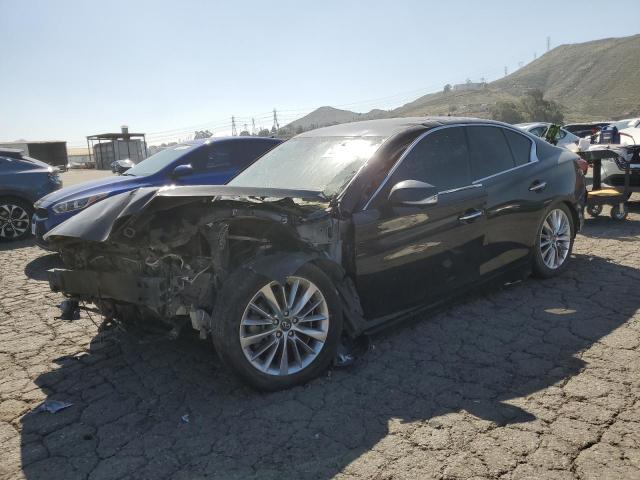
<svg viewBox="0 0 640 480"><path fill-rule="evenodd" d="M504 172L515 166L502 128L466 127L473 180Z"/></svg>

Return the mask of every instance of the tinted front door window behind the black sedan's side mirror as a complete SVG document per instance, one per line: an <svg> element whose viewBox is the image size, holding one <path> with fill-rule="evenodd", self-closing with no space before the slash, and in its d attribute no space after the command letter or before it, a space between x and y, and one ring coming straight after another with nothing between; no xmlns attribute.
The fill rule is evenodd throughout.
<svg viewBox="0 0 640 480"><path fill-rule="evenodd" d="M430 183L441 192L469 185L469 152L462 127L443 128L420 140L393 173L389 188L403 180Z"/></svg>

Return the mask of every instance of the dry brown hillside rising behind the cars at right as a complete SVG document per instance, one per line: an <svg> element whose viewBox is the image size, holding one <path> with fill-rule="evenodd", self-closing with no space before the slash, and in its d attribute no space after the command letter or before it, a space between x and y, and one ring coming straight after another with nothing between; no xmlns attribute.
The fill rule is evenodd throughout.
<svg viewBox="0 0 640 480"><path fill-rule="evenodd" d="M489 117L497 101L515 101L532 89L564 108L566 121L640 115L640 35L561 45L481 90L424 95L390 111L368 113L321 107L294 122L303 129L384 117Z"/></svg>

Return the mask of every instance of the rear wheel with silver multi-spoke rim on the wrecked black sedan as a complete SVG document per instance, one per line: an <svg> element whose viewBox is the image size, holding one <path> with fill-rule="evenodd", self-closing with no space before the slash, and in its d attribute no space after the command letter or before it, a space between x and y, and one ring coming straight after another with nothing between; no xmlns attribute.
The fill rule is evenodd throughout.
<svg viewBox="0 0 640 480"><path fill-rule="evenodd" d="M566 205L555 205L547 211L536 237L533 256L535 276L554 277L567 267L573 249L574 228Z"/></svg>

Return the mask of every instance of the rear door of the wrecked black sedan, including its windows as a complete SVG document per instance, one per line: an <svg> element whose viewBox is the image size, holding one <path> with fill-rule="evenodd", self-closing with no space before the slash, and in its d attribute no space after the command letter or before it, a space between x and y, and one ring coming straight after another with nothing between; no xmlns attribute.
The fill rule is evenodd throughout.
<svg viewBox="0 0 640 480"><path fill-rule="evenodd" d="M499 126L468 126L471 174L486 190L486 244L480 274L498 273L528 258L544 191L552 179L537 161L535 143Z"/></svg>

